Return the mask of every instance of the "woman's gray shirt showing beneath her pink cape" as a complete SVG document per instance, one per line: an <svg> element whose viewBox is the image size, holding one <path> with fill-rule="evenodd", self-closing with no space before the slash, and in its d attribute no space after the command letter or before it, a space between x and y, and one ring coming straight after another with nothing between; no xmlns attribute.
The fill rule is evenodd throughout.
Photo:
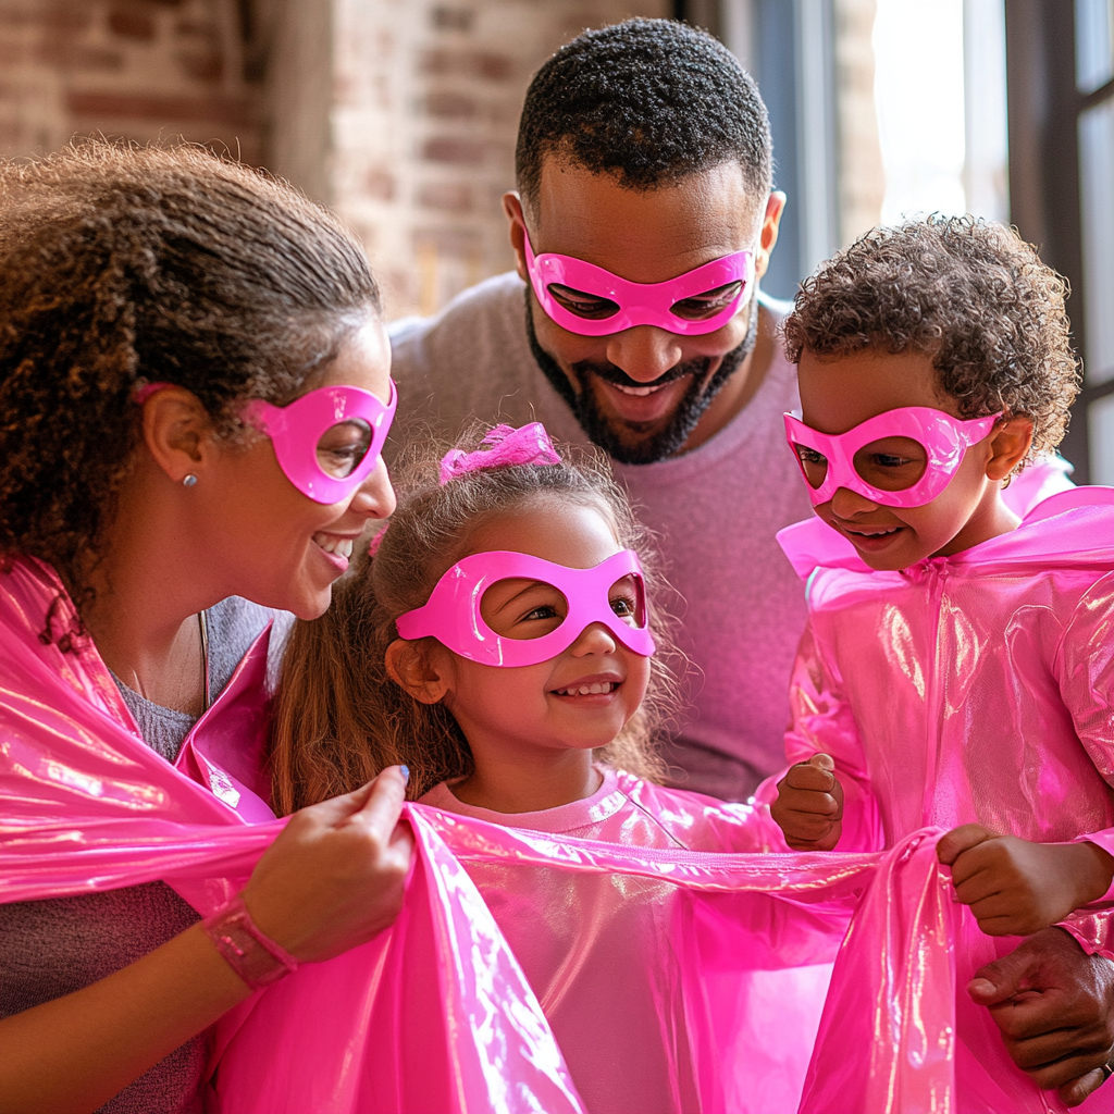
<svg viewBox="0 0 1114 1114"><path fill-rule="evenodd" d="M268 666L276 663L293 616L231 597L206 613L209 692L215 700L240 659L272 619ZM268 672L272 672L268 670ZM144 741L173 762L194 716L117 687ZM0 906L0 1016L72 994L135 962L199 920L165 882L100 893ZM176 1048L102 1107L106 1114L201 1114L211 1032Z"/></svg>

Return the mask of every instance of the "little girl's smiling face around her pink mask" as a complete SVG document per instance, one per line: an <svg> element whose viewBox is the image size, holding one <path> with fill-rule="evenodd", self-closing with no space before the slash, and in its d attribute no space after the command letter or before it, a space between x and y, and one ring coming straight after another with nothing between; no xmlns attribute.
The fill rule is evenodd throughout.
<svg viewBox="0 0 1114 1114"><path fill-rule="evenodd" d="M620 551L602 507L535 502L528 510L486 521L469 553L506 549L570 568L594 568ZM625 578L609 593L612 609L636 624L636 585ZM492 585L480 610L499 635L536 638L554 631L566 614L564 596L537 580ZM603 623L580 632L563 654L514 668L480 665L434 644L431 663L442 678L443 701L472 744L588 750L605 746L635 714L649 682L649 658L627 649Z"/></svg>

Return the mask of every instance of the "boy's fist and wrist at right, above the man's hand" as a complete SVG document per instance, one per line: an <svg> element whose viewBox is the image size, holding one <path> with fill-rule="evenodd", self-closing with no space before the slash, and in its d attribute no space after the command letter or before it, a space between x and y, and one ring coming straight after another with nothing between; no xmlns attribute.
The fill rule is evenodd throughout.
<svg viewBox="0 0 1114 1114"><path fill-rule="evenodd" d="M1114 874L1114 858L1094 843L1030 843L981 824L954 828L936 853L987 936L1039 932L1097 901Z"/></svg>

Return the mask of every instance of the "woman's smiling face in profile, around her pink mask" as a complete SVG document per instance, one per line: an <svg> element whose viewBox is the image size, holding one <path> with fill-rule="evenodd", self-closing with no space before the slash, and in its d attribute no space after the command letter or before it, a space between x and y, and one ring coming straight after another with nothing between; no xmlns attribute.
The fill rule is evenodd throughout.
<svg viewBox="0 0 1114 1114"><path fill-rule="evenodd" d="M387 402L390 368L387 331L379 320L369 321L306 389L359 387ZM333 582L348 569L368 520L394 510L382 460L349 498L330 505L314 502L291 483L268 437L254 439L246 449L221 442L213 465L204 477L204 500L198 500L206 519L204 559L227 570L227 595L299 618L315 618L329 607ZM190 494L202 495L202 487L198 482Z"/></svg>

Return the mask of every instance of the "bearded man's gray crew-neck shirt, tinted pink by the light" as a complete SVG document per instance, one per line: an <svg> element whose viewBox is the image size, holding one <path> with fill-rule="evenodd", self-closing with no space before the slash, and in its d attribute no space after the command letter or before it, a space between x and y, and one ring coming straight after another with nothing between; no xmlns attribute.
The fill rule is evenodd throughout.
<svg viewBox="0 0 1114 1114"><path fill-rule="evenodd" d="M391 326L404 423L428 422L451 438L469 417L541 421L556 438L586 442L530 353L524 290L517 275L498 275L436 317ZM763 304L778 316L788 309ZM805 607L774 535L811 514L781 420L797 405L795 371L779 351L751 401L704 444L652 465L614 463L661 539L683 600L678 641L697 668L692 706L666 756L684 771L677 784L729 800L745 799L784 763L789 674Z"/></svg>

